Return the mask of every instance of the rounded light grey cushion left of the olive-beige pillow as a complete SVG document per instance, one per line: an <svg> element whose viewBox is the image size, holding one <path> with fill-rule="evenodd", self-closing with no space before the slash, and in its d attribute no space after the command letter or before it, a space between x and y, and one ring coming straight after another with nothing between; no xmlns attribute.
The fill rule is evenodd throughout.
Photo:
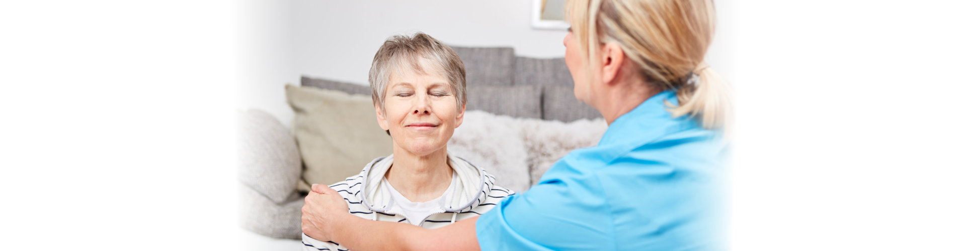
<svg viewBox="0 0 966 251"><path fill-rule="evenodd" d="M298 146L288 128L261 110L238 113L239 180L280 203L301 175Z"/></svg>

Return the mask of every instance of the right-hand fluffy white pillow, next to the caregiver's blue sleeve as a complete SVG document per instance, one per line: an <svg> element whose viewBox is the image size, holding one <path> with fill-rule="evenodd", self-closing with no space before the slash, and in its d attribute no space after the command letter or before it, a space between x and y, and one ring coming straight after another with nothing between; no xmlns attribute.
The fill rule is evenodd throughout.
<svg viewBox="0 0 966 251"><path fill-rule="evenodd" d="M530 183L540 181L540 177L567 153L597 146L607 126L604 119L581 119L568 123L541 120L521 122L520 134L526 142Z"/></svg>

